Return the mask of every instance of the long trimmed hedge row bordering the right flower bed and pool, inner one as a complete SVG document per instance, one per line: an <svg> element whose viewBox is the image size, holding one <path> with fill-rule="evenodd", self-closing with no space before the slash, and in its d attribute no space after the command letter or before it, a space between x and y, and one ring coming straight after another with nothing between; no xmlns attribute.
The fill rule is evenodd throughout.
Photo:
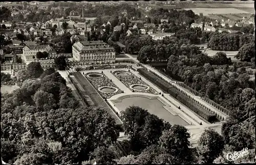
<svg viewBox="0 0 256 165"><path fill-rule="evenodd" d="M196 102L193 98L191 99L189 96L185 94L185 92L181 92L178 89L175 89L175 86L168 84L164 80L161 80L156 75L151 72L148 72L145 69L138 69L138 72L151 80L152 82L157 82L161 89L168 92L174 98L179 100L182 104L186 105L192 111L200 115L205 120L212 122L215 120L216 115L212 114L209 109L203 107L199 102Z"/></svg>

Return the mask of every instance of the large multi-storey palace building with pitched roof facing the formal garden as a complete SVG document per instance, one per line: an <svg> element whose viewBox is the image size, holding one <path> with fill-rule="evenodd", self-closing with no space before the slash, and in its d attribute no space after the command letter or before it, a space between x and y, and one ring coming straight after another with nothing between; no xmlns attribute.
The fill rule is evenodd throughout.
<svg viewBox="0 0 256 165"><path fill-rule="evenodd" d="M80 41L72 46L73 58L80 64L115 63L115 49L103 41Z"/></svg>

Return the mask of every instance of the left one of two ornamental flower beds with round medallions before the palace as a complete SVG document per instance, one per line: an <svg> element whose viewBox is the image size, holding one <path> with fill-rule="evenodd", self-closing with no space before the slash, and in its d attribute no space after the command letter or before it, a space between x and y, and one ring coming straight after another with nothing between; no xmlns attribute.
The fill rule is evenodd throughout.
<svg viewBox="0 0 256 165"><path fill-rule="evenodd" d="M97 75L101 74L102 76L99 76L99 77L88 76L90 74L97 74ZM111 98L116 94L122 93L122 91L107 76L105 76L104 73L89 72L84 76L89 80L89 82L93 85L93 87L99 92L99 94L103 98ZM101 87L114 87L117 89L117 91L106 93L99 90Z"/></svg>

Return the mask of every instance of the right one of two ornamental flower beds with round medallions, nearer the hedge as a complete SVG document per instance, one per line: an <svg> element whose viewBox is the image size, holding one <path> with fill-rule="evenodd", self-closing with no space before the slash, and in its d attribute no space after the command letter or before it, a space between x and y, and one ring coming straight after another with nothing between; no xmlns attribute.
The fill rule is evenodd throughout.
<svg viewBox="0 0 256 165"><path fill-rule="evenodd" d="M114 71L112 74L118 78L119 80L121 80L121 82L127 87L129 88L131 91L133 92L142 92L142 93L151 93L151 94L155 94L158 95L158 92L156 90L154 90L152 87L150 87L149 85L147 85L144 81L142 81L141 79L139 79L136 75L134 75L132 72L127 72L129 74L127 74L126 76L120 76L117 75L116 73L120 73L120 72L127 72L124 70L117 70ZM147 90L136 90L131 88L131 86L133 85L144 85L147 86L149 88L147 88Z"/></svg>

